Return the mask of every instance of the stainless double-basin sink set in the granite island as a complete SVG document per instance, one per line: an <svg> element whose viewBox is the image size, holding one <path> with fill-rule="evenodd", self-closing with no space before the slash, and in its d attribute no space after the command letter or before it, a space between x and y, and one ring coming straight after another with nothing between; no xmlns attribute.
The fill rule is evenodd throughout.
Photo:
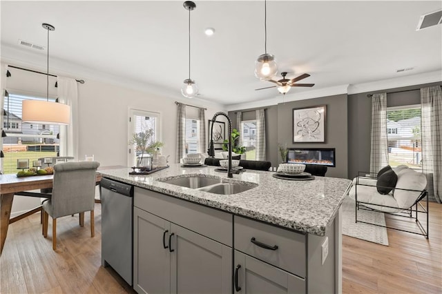
<svg viewBox="0 0 442 294"><path fill-rule="evenodd" d="M201 190L221 195L237 194L258 186L258 184L255 183L248 183L248 184L226 183L222 182L222 179L220 178L201 177L201 176L191 176L191 177L186 176L186 177L177 177L175 179L164 179L164 180L159 179L159 181L166 184L173 184L177 186L182 186L186 188L191 188L195 190Z"/></svg>

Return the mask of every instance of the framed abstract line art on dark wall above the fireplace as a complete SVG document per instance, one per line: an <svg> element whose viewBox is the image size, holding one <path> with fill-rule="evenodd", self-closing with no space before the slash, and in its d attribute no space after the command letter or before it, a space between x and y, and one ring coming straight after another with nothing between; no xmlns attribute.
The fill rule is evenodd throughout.
<svg viewBox="0 0 442 294"><path fill-rule="evenodd" d="M293 142L325 143L325 105L293 110Z"/></svg>

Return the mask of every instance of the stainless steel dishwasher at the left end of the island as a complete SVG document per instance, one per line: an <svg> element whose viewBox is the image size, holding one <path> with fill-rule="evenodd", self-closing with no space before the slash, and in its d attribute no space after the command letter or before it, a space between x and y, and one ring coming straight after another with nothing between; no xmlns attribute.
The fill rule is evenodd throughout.
<svg viewBox="0 0 442 294"><path fill-rule="evenodd" d="M133 186L102 179L102 266L112 268L132 286Z"/></svg>

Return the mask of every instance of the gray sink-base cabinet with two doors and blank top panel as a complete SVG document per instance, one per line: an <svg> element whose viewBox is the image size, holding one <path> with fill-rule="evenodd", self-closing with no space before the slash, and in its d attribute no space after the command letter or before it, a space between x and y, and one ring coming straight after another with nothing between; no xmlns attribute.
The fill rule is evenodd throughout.
<svg viewBox="0 0 442 294"><path fill-rule="evenodd" d="M231 215L148 190L134 196L135 291L231 293L232 248L220 242L231 242Z"/></svg>

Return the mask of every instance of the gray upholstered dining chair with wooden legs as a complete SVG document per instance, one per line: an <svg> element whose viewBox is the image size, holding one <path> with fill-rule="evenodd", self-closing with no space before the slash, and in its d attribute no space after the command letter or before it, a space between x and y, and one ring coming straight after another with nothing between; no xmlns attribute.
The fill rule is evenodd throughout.
<svg viewBox="0 0 442 294"><path fill-rule="evenodd" d="M80 213L79 224L84 226L84 212L90 211L90 237L94 237L95 172L97 161L55 164L52 197L44 202L43 235L48 236L48 218L52 217L52 248L57 248L57 218Z"/></svg>

